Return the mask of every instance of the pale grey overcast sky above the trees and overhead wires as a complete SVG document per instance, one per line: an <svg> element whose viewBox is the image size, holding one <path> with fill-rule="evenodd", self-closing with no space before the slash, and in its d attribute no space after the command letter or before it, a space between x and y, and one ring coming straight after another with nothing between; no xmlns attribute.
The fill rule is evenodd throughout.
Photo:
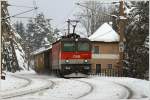
<svg viewBox="0 0 150 100"><path fill-rule="evenodd" d="M53 19L52 23L54 26L62 25L77 8L75 2L80 0L35 0L36 5L39 7L37 10L38 13L43 12L46 18ZM11 5L17 6L33 6L33 0L9 0ZM22 8L22 7L9 7L10 15L14 15L26 10L30 10L31 8ZM20 15L23 17L33 17L36 14L35 11ZM12 19L12 21L24 21L27 19Z"/></svg>

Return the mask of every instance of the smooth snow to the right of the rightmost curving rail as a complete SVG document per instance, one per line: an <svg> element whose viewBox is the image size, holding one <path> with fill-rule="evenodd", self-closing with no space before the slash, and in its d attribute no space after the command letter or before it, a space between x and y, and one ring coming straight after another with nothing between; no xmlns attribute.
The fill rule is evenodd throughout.
<svg viewBox="0 0 150 100"><path fill-rule="evenodd" d="M92 77L95 80L107 80L122 84L132 91L131 98L150 100L150 81L128 77Z"/></svg>

